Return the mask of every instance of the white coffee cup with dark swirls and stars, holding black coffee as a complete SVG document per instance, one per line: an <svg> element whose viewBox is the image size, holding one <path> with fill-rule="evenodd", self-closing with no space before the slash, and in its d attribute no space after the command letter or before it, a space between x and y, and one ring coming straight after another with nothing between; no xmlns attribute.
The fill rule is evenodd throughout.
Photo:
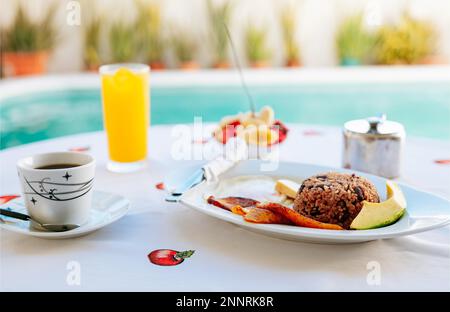
<svg viewBox="0 0 450 312"><path fill-rule="evenodd" d="M64 168L45 168L48 166ZM25 206L34 220L58 225L88 221L95 174L92 156L77 152L38 154L20 159L17 171Z"/></svg>

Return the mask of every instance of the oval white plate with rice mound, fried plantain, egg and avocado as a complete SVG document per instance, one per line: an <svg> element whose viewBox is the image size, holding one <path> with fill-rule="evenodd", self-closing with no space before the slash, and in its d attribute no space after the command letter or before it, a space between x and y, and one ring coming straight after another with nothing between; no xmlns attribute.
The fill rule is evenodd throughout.
<svg viewBox="0 0 450 312"><path fill-rule="evenodd" d="M248 230L314 243L357 243L432 230L450 223L444 198L346 169L262 160L239 162L180 202Z"/></svg>

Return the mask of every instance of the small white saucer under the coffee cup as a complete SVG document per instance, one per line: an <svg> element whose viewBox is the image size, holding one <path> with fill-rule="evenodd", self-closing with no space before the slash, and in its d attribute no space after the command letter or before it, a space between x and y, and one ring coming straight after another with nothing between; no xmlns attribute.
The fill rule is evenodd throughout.
<svg viewBox="0 0 450 312"><path fill-rule="evenodd" d="M21 197L1 205L1 208L11 208L17 212L27 213ZM28 221L21 221L5 216L0 216L5 221L5 223L0 222L0 228L2 230L47 239L74 238L92 233L119 220L128 212L129 208L129 200L122 196L94 191L89 221L74 230L67 232L39 231L31 228L30 222Z"/></svg>

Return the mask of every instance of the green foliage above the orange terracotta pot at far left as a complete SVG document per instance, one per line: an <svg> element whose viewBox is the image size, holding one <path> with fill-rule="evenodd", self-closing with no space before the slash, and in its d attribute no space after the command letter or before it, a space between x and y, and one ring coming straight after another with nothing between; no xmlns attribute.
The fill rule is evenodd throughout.
<svg viewBox="0 0 450 312"><path fill-rule="evenodd" d="M57 30L53 24L56 5L48 8L40 21L32 21L19 5L11 26L3 29L2 49L8 52L49 51L57 41Z"/></svg>

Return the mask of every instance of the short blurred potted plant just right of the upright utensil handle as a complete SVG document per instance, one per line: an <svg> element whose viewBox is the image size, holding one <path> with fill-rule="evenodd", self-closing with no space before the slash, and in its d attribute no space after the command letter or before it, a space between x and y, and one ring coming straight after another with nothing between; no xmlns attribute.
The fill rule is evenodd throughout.
<svg viewBox="0 0 450 312"><path fill-rule="evenodd" d="M245 54L253 68L269 66L268 60L272 53L266 44L266 29L249 24L245 31Z"/></svg>

